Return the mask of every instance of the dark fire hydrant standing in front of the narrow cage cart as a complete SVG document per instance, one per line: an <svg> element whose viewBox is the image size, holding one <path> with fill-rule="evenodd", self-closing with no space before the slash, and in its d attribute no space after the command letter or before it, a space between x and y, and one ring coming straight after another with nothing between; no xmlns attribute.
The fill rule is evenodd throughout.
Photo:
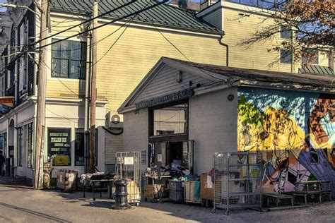
<svg viewBox="0 0 335 223"><path fill-rule="evenodd" d="M130 208L128 204L127 180L119 179L115 181L115 203L112 209L127 209Z"/></svg>

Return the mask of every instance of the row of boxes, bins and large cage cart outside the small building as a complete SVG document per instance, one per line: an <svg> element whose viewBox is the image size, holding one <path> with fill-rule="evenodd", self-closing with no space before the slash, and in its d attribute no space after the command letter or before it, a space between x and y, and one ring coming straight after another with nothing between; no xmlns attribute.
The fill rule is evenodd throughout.
<svg viewBox="0 0 335 223"><path fill-rule="evenodd" d="M187 165L184 165L187 166ZM261 210L261 156L259 153L216 153L208 173L192 174L181 164L146 169L146 201L196 203L225 210Z"/></svg>

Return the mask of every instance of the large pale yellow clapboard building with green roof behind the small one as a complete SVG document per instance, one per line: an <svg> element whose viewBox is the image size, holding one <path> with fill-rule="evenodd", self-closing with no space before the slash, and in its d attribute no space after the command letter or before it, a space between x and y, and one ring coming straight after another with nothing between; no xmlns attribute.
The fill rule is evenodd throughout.
<svg viewBox="0 0 335 223"><path fill-rule="evenodd" d="M100 171L112 169L114 152L125 148L123 116L118 114L117 109L162 56L221 66L274 71L291 69L289 64L267 66L278 55L268 53L264 44L252 49L235 46L243 35L257 29L257 16L237 19L239 13L246 13L240 4L222 1L197 14L161 4L136 13L157 2L100 1L100 14L104 13L105 16L99 18L99 25L104 26L98 29L98 42L93 43L88 35L81 33L90 25L78 25L90 18L90 2L49 1L47 44L52 45L47 47L45 61L47 98L43 154L45 161L51 155L59 155L55 161L59 167L55 168L78 169L80 173L84 171L88 133L85 98L89 97L86 86L89 83L87 74L92 44L98 45L96 163ZM13 0L9 3L28 6L38 15L33 1ZM11 25L3 25L4 31L1 33L4 67L1 94L14 97L15 107L1 116L0 133L3 138L6 135L4 150L7 157L9 149L13 148L11 167L16 167L13 174L31 177L31 157L34 157L35 150L38 60L33 47L39 37L39 17L25 8L8 8L8 13L4 15L10 18ZM115 19L119 20L112 22ZM74 25L78 26L71 28ZM71 29L66 30L68 28ZM5 32L7 35L4 35ZM68 40L64 40L68 37ZM29 46L27 54L11 56L25 46ZM164 89L165 85L160 88ZM159 130L164 131L163 127ZM66 139L59 143L57 140L62 136Z"/></svg>

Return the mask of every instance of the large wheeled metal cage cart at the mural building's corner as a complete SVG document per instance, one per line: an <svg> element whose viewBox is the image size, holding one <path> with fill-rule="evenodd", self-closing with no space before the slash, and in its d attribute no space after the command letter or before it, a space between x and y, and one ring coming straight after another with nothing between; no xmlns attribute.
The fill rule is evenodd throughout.
<svg viewBox="0 0 335 223"><path fill-rule="evenodd" d="M213 209L261 210L261 153L216 152L214 155Z"/></svg>

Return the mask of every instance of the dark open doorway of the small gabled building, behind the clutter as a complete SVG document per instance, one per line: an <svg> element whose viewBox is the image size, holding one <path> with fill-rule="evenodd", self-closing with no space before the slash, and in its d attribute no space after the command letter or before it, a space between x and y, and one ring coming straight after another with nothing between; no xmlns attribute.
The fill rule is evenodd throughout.
<svg viewBox="0 0 335 223"><path fill-rule="evenodd" d="M180 165L193 173L193 140L153 143L153 163L158 167Z"/></svg>

